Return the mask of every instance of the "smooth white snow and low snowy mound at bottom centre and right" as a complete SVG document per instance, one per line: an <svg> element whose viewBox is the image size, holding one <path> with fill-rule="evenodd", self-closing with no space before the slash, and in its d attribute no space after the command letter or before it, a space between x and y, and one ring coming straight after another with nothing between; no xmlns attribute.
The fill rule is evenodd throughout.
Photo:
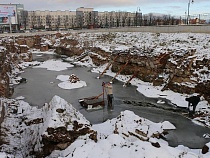
<svg viewBox="0 0 210 158"><path fill-rule="evenodd" d="M141 120L137 122L137 120ZM135 115L131 111L121 112L120 116L104 123L93 125L92 128L97 131L97 143L90 139L78 138L68 148L63 151L54 151L51 157L67 158L101 158L122 157L186 157L198 158L198 149L192 150L187 147L178 146L176 148L168 146L167 142L152 137L153 132L158 133L163 129L175 129L175 126L165 121L162 123L153 123L147 119ZM113 131L117 129L118 134ZM130 133L139 129L147 133L149 141L142 141ZM160 147L154 147L152 143L159 143ZM200 152L199 152L200 153ZM207 158L209 155L202 155Z"/></svg>

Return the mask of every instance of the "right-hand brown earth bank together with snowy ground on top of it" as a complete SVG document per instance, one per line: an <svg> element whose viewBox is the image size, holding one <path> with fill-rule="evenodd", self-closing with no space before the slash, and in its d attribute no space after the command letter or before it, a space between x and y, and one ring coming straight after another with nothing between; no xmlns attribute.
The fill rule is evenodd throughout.
<svg viewBox="0 0 210 158"><path fill-rule="evenodd" d="M143 34L142 36L145 36L144 33L139 34ZM151 33L148 34L148 37L152 36L153 38L151 43L157 42L155 41L157 40L156 38L159 38L159 43L156 43L156 45L136 47L131 45L132 40L137 39L138 36L133 35L130 37L132 39L130 43L129 41L124 41L123 37L129 36L129 33L123 34L123 37L121 37L120 33L88 35L84 36L84 34L82 34L79 36L76 34L74 36L71 34L70 38L74 40L78 39L77 48L79 47L79 42L82 46L88 38L92 39L94 44L86 43L85 48L94 52L90 53L89 56L91 57L93 64L96 66L102 66L110 60L114 60L119 54L116 61L112 63L111 70L113 72L117 73L129 60L127 66L121 72L122 75L135 74L135 76L142 81L153 83L154 86L163 86L163 91L170 89L174 92L189 95L198 93L210 103L208 86L210 83L208 77L210 75L210 60L206 56L206 53L202 56L202 53L199 52L206 52L208 50L205 43L205 47L202 47L202 41L197 41L197 43L200 44L199 47L201 47L201 50L199 50L194 47L190 47L190 43L194 42L194 40L191 41L191 36L188 39L180 39L179 37L174 37L176 34L173 34L171 39L169 38L168 41L166 41L165 39L161 39L162 36L164 38L164 34L160 34L156 37L155 34ZM61 40L60 46L56 47L56 52L62 52L58 50L63 48L63 45L65 45L65 42L68 41L68 38L69 37L66 36L65 40ZM198 37L193 36L193 39L197 40ZM161 40L164 42L161 42ZM112 48L111 45L114 42L115 47ZM127 48L125 50L116 50L118 45L119 47L122 47L122 43L123 45L127 45ZM169 47L171 43L175 48ZM135 42L133 42L133 44L135 44ZM176 46L176 44L179 45ZM187 44L189 45L188 47L186 46ZM101 49L100 46L103 47L103 49ZM105 51L106 47L110 49L107 48ZM84 47L82 48L84 49ZM68 55L65 51L64 54ZM78 52L72 51L71 55L68 56L74 55L77 56Z"/></svg>

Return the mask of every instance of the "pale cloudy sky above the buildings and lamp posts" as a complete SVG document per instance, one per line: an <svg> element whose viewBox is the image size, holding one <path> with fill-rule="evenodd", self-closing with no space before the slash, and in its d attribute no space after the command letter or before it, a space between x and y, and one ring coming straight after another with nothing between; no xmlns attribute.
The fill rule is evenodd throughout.
<svg viewBox="0 0 210 158"><path fill-rule="evenodd" d="M189 0L0 0L0 3L24 4L25 10L30 11L75 11L79 7L88 7L94 8L95 11L135 12L141 10L143 14L185 15ZM210 13L210 0L194 0L194 3L190 3L190 14L202 13Z"/></svg>

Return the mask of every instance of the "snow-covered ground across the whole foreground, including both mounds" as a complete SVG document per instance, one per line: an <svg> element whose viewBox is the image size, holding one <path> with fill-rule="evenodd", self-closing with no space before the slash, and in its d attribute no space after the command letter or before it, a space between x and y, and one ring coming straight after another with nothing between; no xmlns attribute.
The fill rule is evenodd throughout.
<svg viewBox="0 0 210 158"><path fill-rule="evenodd" d="M6 102L16 105L18 112L12 114L11 110L14 110L14 107L8 108L7 113L9 115L6 117L3 127L9 128L11 131L7 138L11 147L5 144L3 149L11 148L10 151L13 151L12 147L16 147L17 149L20 148L20 151L17 151L15 156L0 153L1 158L6 156L9 158L25 157L24 154L30 150L30 144L34 142L37 143L35 150L38 150L42 146L39 143L41 135L47 135L47 127L67 126L68 130L72 130L71 122L75 120L79 121L80 124L90 126L89 121L82 114L59 96L54 96L51 102L46 103L42 109L31 107L22 100L7 100ZM64 113L58 113L56 109L63 109ZM28 123L36 118L43 118L43 123L27 126L22 122L22 118L24 118L24 122ZM175 148L170 147L166 141L157 139L155 135L159 135L164 130L176 130L174 125L168 121L154 123L128 110L122 111L117 118L93 125L91 128L97 131L97 142L91 140L89 135L80 136L65 150L55 150L48 158L96 158L99 156L102 158L209 158L210 156L209 152L202 154L201 149L189 149L182 145ZM19 136L16 137L13 133L18 133ZM31 133L33 134L31 135ZM209 143L206 145L210 147Z"/></svg>

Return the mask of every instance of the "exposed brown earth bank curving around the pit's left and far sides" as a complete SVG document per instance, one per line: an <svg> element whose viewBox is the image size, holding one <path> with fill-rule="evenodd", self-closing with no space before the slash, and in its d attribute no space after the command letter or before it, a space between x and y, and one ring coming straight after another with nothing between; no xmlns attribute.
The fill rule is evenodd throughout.
<svg viewBox="0 0 210 158"><path fill-rule="evenodd" d="M72 38L72 35L71 38L67 38L69 35L57 33L42 36L19 36L7 40L3 38L0 43L2 47L0 50L0 95L8 97L12 94L7 72L11 72L13 67L18 68L18 63L21 61L31 61L30 49L36 48L43 52L48 49L55 49L57 54L69 57L77 56L77 60L81 60L86 55L89 55L97 66L109 63L109 65L112 65L111 70L113 72L132 75L132 77L137 77L142 81L151 82L154 86L164 85L163 91L170 89L178 93L199 93L210 102L210 81L201 82L191 79L198 77L194 73L195 71L203 69L201 73L208 74L210 69L209 59L195 59L193 57L196 49L188 49L187 51L184 49L167 49L160 55L155 56L153 55L154 48L152 46L151 48L137 48L133 46L126 51L118 50L110 53L94 46L93 41L84 40L82 41L83 46L78 47L81 41ZM113 37L110 36L104 35L101 38L111 40ZM59 42L57 41L58 39ZM4 47L6 49L3 49ZM84 54L87 51L94 53ZM171 59L175 60L176 63L172 62ZM208 70L205 71L204 68ZM167 76L167 79L163 75ZM188 85L182 83L187 83Z"/></svg>

